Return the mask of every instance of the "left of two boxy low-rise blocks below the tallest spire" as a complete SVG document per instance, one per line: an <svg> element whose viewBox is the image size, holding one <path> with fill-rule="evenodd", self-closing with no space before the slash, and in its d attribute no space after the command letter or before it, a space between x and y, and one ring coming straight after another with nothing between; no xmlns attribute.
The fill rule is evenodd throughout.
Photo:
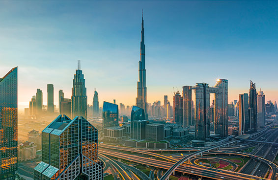
<svg viewBox="0 0 278 180"><path fill-rule="evenodd" d="M146 125L147 120L135 120L131 121L130 127L130 138L136 140L146 139Z"/></svg>

